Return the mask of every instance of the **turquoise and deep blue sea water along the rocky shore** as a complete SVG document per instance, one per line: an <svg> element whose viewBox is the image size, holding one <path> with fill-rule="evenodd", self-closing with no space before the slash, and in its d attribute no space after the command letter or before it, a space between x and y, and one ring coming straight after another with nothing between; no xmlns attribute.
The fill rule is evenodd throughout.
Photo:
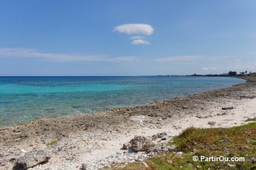
<svg viewBox="0 0 256 170"><path fill-rule="evenodd" d="M139 106L243 83L222 77L0 77L0 127Z"/></svg>

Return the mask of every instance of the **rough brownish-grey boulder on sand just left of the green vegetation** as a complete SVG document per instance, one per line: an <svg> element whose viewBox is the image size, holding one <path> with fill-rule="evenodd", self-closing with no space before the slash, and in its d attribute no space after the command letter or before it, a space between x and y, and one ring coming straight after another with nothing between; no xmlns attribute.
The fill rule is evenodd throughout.
<svg viewBox="0 0 256 170"><path fill-rule="evenodd" d="M136 152L146 152L150 147L154 146L152 138L145 136L135 136L130 143L131 148Z"/></svg>

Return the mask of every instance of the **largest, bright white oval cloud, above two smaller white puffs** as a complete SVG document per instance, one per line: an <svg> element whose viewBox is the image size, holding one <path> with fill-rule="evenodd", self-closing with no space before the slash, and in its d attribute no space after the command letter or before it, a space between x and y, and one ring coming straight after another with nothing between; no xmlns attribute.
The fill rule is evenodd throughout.
<svg viewBox="0 0 256 170"><path fill-rule="evenodd" d="M126 34L144 34L151 35L154 33L153 27L149 24L122 24L114 27L114 31Z"/></svg>

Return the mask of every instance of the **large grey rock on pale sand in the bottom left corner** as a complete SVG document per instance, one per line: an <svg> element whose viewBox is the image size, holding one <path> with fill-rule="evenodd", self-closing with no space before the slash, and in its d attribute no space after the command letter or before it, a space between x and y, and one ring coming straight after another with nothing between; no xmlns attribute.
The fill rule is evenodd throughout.
<svg viewBox="0 0 256 170"><path fill-rule="evenodd" d="M19 157L16 166L22 166L24 169L45 163L50 159L50 153L44 150L27 152L23 157Z"/></svg>

